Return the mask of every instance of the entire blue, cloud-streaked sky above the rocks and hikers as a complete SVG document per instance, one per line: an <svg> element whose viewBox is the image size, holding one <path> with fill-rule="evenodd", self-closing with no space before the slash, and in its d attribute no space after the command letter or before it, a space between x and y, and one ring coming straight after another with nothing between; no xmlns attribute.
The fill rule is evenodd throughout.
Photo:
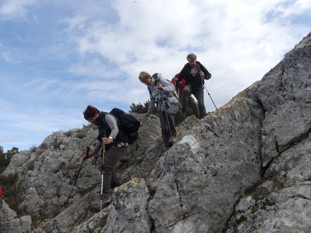
<svg viewBox="0 0 311 233"><path fill-rule="evenodd" d="M140 71L172 79L195 53L217 107L311 31L309 0L2 0L0 145L39 145L87 124L88 104L145 103ZM207 111L215 110L205 92Z"/></svg>

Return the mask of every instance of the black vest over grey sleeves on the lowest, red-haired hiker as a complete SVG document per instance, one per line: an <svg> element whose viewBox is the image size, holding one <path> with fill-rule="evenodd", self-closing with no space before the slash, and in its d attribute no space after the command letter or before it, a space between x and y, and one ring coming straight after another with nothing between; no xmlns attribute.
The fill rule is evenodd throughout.
<svg viewBox="0 0 311 233"><path fill-rule="evenodd" d="M96 124L96 125L98 126L98 131L99 131L97 139L101 142L102 142L101 138L103 138L103 137L108 138L110 133L111 133L111 129L109 128L108 124L104 120L104 117L106 116L107 113L108 112L101 111L100 114L98 115L98 117L96 118L96 121L98 122L98 124ZM111 114L111 113L109 113L109 114ZM111 114L111 115L113 115L113 114ZM128 143L128 141L129 141L128 137L122 132L122 130L120 130L120 121L119 121L118 117L114 116L114 118L117 121L119 131L118 131L118 134L117 134L116 138L114 139L114 141L110 144L105 145L105 151L108 151L109 148L119 144L120 142Z"/></svg>

